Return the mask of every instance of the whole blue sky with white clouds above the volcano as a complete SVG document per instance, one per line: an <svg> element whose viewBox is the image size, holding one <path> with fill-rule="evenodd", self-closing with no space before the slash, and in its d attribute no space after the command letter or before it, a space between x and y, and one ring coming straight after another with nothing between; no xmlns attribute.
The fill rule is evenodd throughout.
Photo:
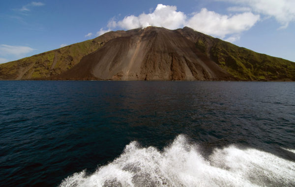
<svg viewBox="0 0 295 187"><path fill-rule="evenodd" d="M295 62L295 0L1 0L0 63L107 31L185 26Z"/></svg>

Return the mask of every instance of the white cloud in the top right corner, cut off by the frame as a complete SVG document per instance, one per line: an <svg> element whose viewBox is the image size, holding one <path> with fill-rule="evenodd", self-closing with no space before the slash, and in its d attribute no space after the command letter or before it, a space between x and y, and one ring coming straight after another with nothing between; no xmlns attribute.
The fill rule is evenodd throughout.
<svg viewBox="0 0 295 187"><path fill-rule="evenodd" d="M218 0L249 6L252 11L274 17L281 25L287 28L290 22L295 21L295 0Z"/></svg>

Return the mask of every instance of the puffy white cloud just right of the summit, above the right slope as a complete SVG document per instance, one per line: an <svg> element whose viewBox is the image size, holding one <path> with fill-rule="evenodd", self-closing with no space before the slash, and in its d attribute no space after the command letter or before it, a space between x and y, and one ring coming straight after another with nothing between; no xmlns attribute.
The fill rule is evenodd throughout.
<svg viewBox="0 0 295 187"><path fill-rule="evenodd" d="M202 8L200 12L193 14L193 17L188 20L187 26L209 35L224 38L228 34L249 30L259 19L259 15L254 15L251 12L227 16Z"/></svg>

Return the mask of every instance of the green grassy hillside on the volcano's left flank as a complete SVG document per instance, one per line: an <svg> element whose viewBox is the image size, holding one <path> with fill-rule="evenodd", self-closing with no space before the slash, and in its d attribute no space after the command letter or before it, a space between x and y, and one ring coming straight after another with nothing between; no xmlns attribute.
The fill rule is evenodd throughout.
<svg viewBox="0 0 295 187"><path fill-rule="evenodd" d="M107 37L97 37L17 61L0 64L0 79L40 79L60 74L79 63L85 55L99 49L108 39Z"/></svg>

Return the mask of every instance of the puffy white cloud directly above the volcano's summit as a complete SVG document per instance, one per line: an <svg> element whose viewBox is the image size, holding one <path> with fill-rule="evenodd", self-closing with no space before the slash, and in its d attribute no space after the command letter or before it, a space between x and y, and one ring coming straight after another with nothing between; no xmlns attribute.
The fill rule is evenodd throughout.
<svg viewBox="0 0 295 187"><path fill-rule="evenodd" d="M127 16L123 20L118 21L117 24L112 24L127 30L139 27L145 28L148 26L177 29L183 27L186 15L176 10L176 6L158 4L152 13L142 13L139 16Z"/></svg>

